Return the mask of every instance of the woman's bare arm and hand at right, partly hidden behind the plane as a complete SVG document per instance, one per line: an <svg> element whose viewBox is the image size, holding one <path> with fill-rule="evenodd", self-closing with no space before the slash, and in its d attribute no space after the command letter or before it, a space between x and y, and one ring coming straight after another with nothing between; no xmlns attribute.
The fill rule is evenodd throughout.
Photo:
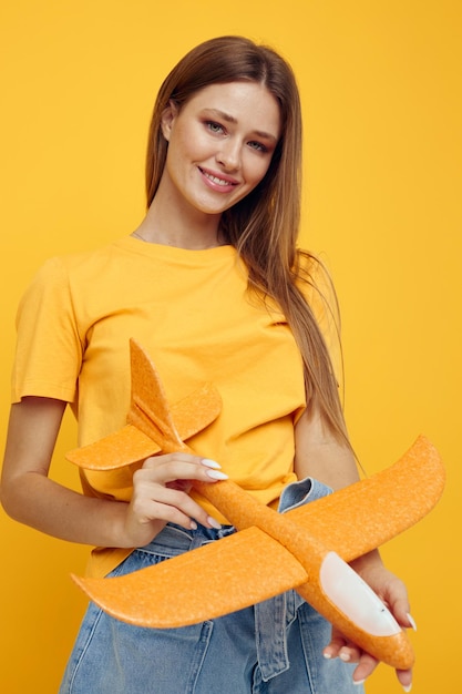
<svg viewBox="0 0 462 694"><path fill-rule="evenodd" d="M308 408L298 421L295 442L295 471L299 479L314 477L335 491L359 479L352 451L329 431L315 408ZM351 565L383 600L396 620L402 626L412 626L405 586L383 567L378 550L358 558ZM324 653L326 657L357 662L353 674L357 682L366 680L378 665L372 656L347 641L338 630L332 630L331 642ZM409 691L412 672L400 671L397 675L404 690Z"/></svg>

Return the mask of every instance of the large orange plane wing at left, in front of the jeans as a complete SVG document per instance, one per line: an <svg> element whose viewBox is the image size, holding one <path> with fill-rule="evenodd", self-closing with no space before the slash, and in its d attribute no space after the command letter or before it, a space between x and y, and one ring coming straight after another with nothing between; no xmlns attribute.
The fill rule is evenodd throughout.
<svg viewBox="0 0 462 694"><path fill-rule="evenodd" d="M248 608L300 585L308 574L288 550L254 527L123 576L72 578L107 614L163 629Z"/></svg>

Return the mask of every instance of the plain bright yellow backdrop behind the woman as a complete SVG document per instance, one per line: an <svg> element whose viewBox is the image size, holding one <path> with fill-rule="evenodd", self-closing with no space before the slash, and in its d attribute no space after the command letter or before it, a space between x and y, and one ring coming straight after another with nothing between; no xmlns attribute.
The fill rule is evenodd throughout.
<svg viewBox="0 0 462 694"><path fill-rule="evenodd" d="M425 694L460 687L461 22L460 0L16 0L0 10L1 436L19 297L48 256L140 221L161 79L213 35L273 44L300 84L302 241L327 259L341 299L353 443L374 472L424 432L448 468L442 502L383 550L409 584L413 691ZM73 445L68 419L53 476L69 484ZM84 608L69 573L83 570L86 549L4 513L0 532L0 688L50 694ZM393 691L382 665L368 693Z"/></svg>

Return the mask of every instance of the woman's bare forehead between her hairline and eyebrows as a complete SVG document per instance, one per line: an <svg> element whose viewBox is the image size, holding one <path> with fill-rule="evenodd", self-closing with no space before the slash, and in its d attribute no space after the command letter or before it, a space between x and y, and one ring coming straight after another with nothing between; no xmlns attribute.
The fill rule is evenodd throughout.
<svg viewBox="0 0 462 694"><path fill-rule="evenodd" d="M271 92L258 82L209 84L186 102L188 111L219 111L238 125L280 135L280 109Z"/></svg>

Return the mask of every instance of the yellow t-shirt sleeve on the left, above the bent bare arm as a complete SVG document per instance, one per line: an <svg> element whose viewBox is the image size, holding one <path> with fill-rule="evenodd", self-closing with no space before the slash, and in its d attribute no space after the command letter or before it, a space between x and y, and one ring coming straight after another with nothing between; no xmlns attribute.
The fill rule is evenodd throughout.
<svg viewBox="0 0 462 694"><path fill-rule="evenodd" d="M48 261L25 290L17 314L12 401L40 396L73 402L82 364L82 341L68 272Z"/></svg>

